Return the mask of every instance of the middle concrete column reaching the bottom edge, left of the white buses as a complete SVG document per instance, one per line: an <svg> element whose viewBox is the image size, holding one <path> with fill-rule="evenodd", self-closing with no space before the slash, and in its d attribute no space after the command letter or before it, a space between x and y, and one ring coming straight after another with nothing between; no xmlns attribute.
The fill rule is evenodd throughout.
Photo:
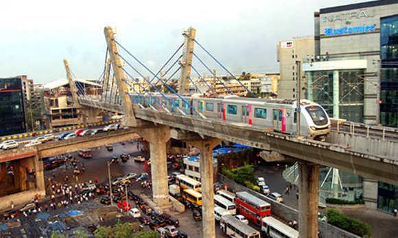
<svg viewBox="0 0 398 238"><path fill-rule="evenodd" d="M201 152L200 178L202 183L202 237L215 237L214 188L213 188L213 148L220 144L219 139L190 142Z"/></svg>

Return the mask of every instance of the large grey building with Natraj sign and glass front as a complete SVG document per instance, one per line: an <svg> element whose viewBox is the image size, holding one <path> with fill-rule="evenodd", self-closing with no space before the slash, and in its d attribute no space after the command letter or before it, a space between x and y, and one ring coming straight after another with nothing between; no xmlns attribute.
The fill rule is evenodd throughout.
<svg viewBox="0 0 398 238"><path fill-rule="evenodd" d="M315 56L303 64L307 98L333 118L397 126L397 66L387 63L397 56L397 14L390 0L315 12Z"/></svg>

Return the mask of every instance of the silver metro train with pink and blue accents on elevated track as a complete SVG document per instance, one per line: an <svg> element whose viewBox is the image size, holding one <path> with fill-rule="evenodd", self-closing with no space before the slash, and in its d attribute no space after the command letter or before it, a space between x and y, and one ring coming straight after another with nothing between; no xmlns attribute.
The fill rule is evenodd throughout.
<svg viewBox="0 0 398 238"><path fill-rule="evenodd" d="M280 133L296 135L297 113L296 101L292 99L242 98L239 96L220 96L206 98L202 94L176 96L175 94L139 95L131 94L135 104L169 111L172 114L184 114L227 122L260 129L273 129ZM329 116L323 107L308 100L301 100L300 130L301 135L324 140L331 130Z"/></svg>

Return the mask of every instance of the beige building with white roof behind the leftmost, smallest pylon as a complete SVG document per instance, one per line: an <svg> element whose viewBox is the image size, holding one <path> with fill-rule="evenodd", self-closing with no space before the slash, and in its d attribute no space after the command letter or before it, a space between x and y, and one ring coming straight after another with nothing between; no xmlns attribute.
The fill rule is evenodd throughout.
<svg viewBox="0 0 398 238"><path fill-rule="evenodd" d="M101 85L85 79L75 79L78 94L100 96ZM67 79L59 79L44 85L46 124L50 128L66 127L83 122L82 111L75 107Z"/></svg>

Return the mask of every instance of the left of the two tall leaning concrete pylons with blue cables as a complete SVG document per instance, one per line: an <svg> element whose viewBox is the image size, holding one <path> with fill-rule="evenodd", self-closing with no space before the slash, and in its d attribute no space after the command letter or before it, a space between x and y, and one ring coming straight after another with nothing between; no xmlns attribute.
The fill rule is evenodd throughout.
<svg viewBox="0 0 398 238"><path fill-rule="evenodd" d="M124 82L126 77L124 76L123 70L121 70L122 64L119 57L119 51L115 42L115 31L111 27L104 28L105 40L108 45L108 53L110 61L112 62L113 72L115 73L115 81L117 90L119 92L121 107L124 112L124 117L121 124L126 127L137 127L137 120L134 116L134 110L132 108L132 102L128 95L128 85Z"/></svg>

